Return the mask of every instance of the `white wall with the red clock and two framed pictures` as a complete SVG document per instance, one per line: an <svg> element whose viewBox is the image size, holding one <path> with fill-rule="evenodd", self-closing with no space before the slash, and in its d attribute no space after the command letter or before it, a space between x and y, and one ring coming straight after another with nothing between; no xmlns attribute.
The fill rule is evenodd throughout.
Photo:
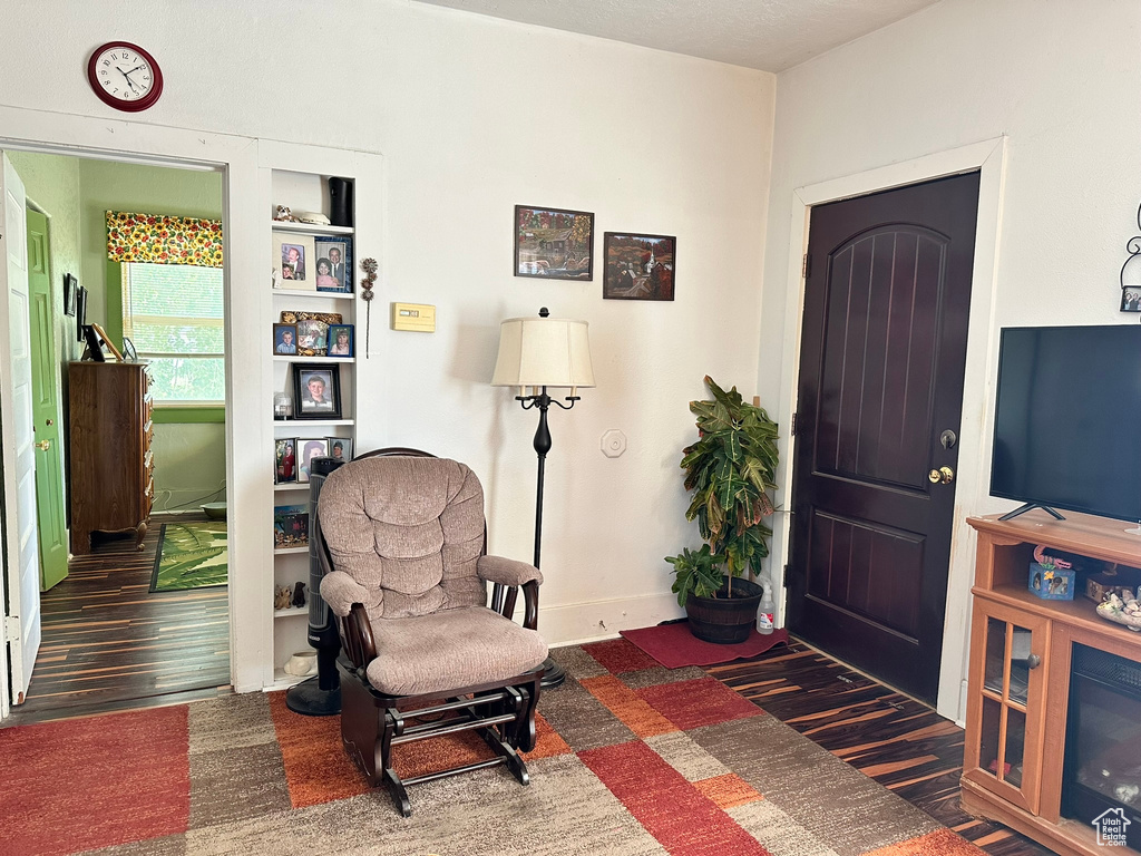
<svg viewBox="0 0 1141 856"><path fill-rule="evenodd" d="M467 461L484 481L491 548L528 558L536 419L487 386L497 325L544 305L586 318L599 386L551 417L543 603L561 608L542 627L559 641L677 614L662 557L698 541L678 468L687 402L706 373L753 391L775 79L397 0L119 11L9 2L0 81L21 84L0 102L112 115L83 59L124 38L165 73L139 122L383 154L383 197L357 204L381 207L385 241L357 257L382 265L373 357L358 369L386 415L359 427L359 449ZM593 211L596 253L605 231L677 235L678 300L602 301L597 275L512 277L516 203ZM438 332L388 331L391 300L435 304ZM601 454L608 428L629 437L622 458Z"/></svg>

